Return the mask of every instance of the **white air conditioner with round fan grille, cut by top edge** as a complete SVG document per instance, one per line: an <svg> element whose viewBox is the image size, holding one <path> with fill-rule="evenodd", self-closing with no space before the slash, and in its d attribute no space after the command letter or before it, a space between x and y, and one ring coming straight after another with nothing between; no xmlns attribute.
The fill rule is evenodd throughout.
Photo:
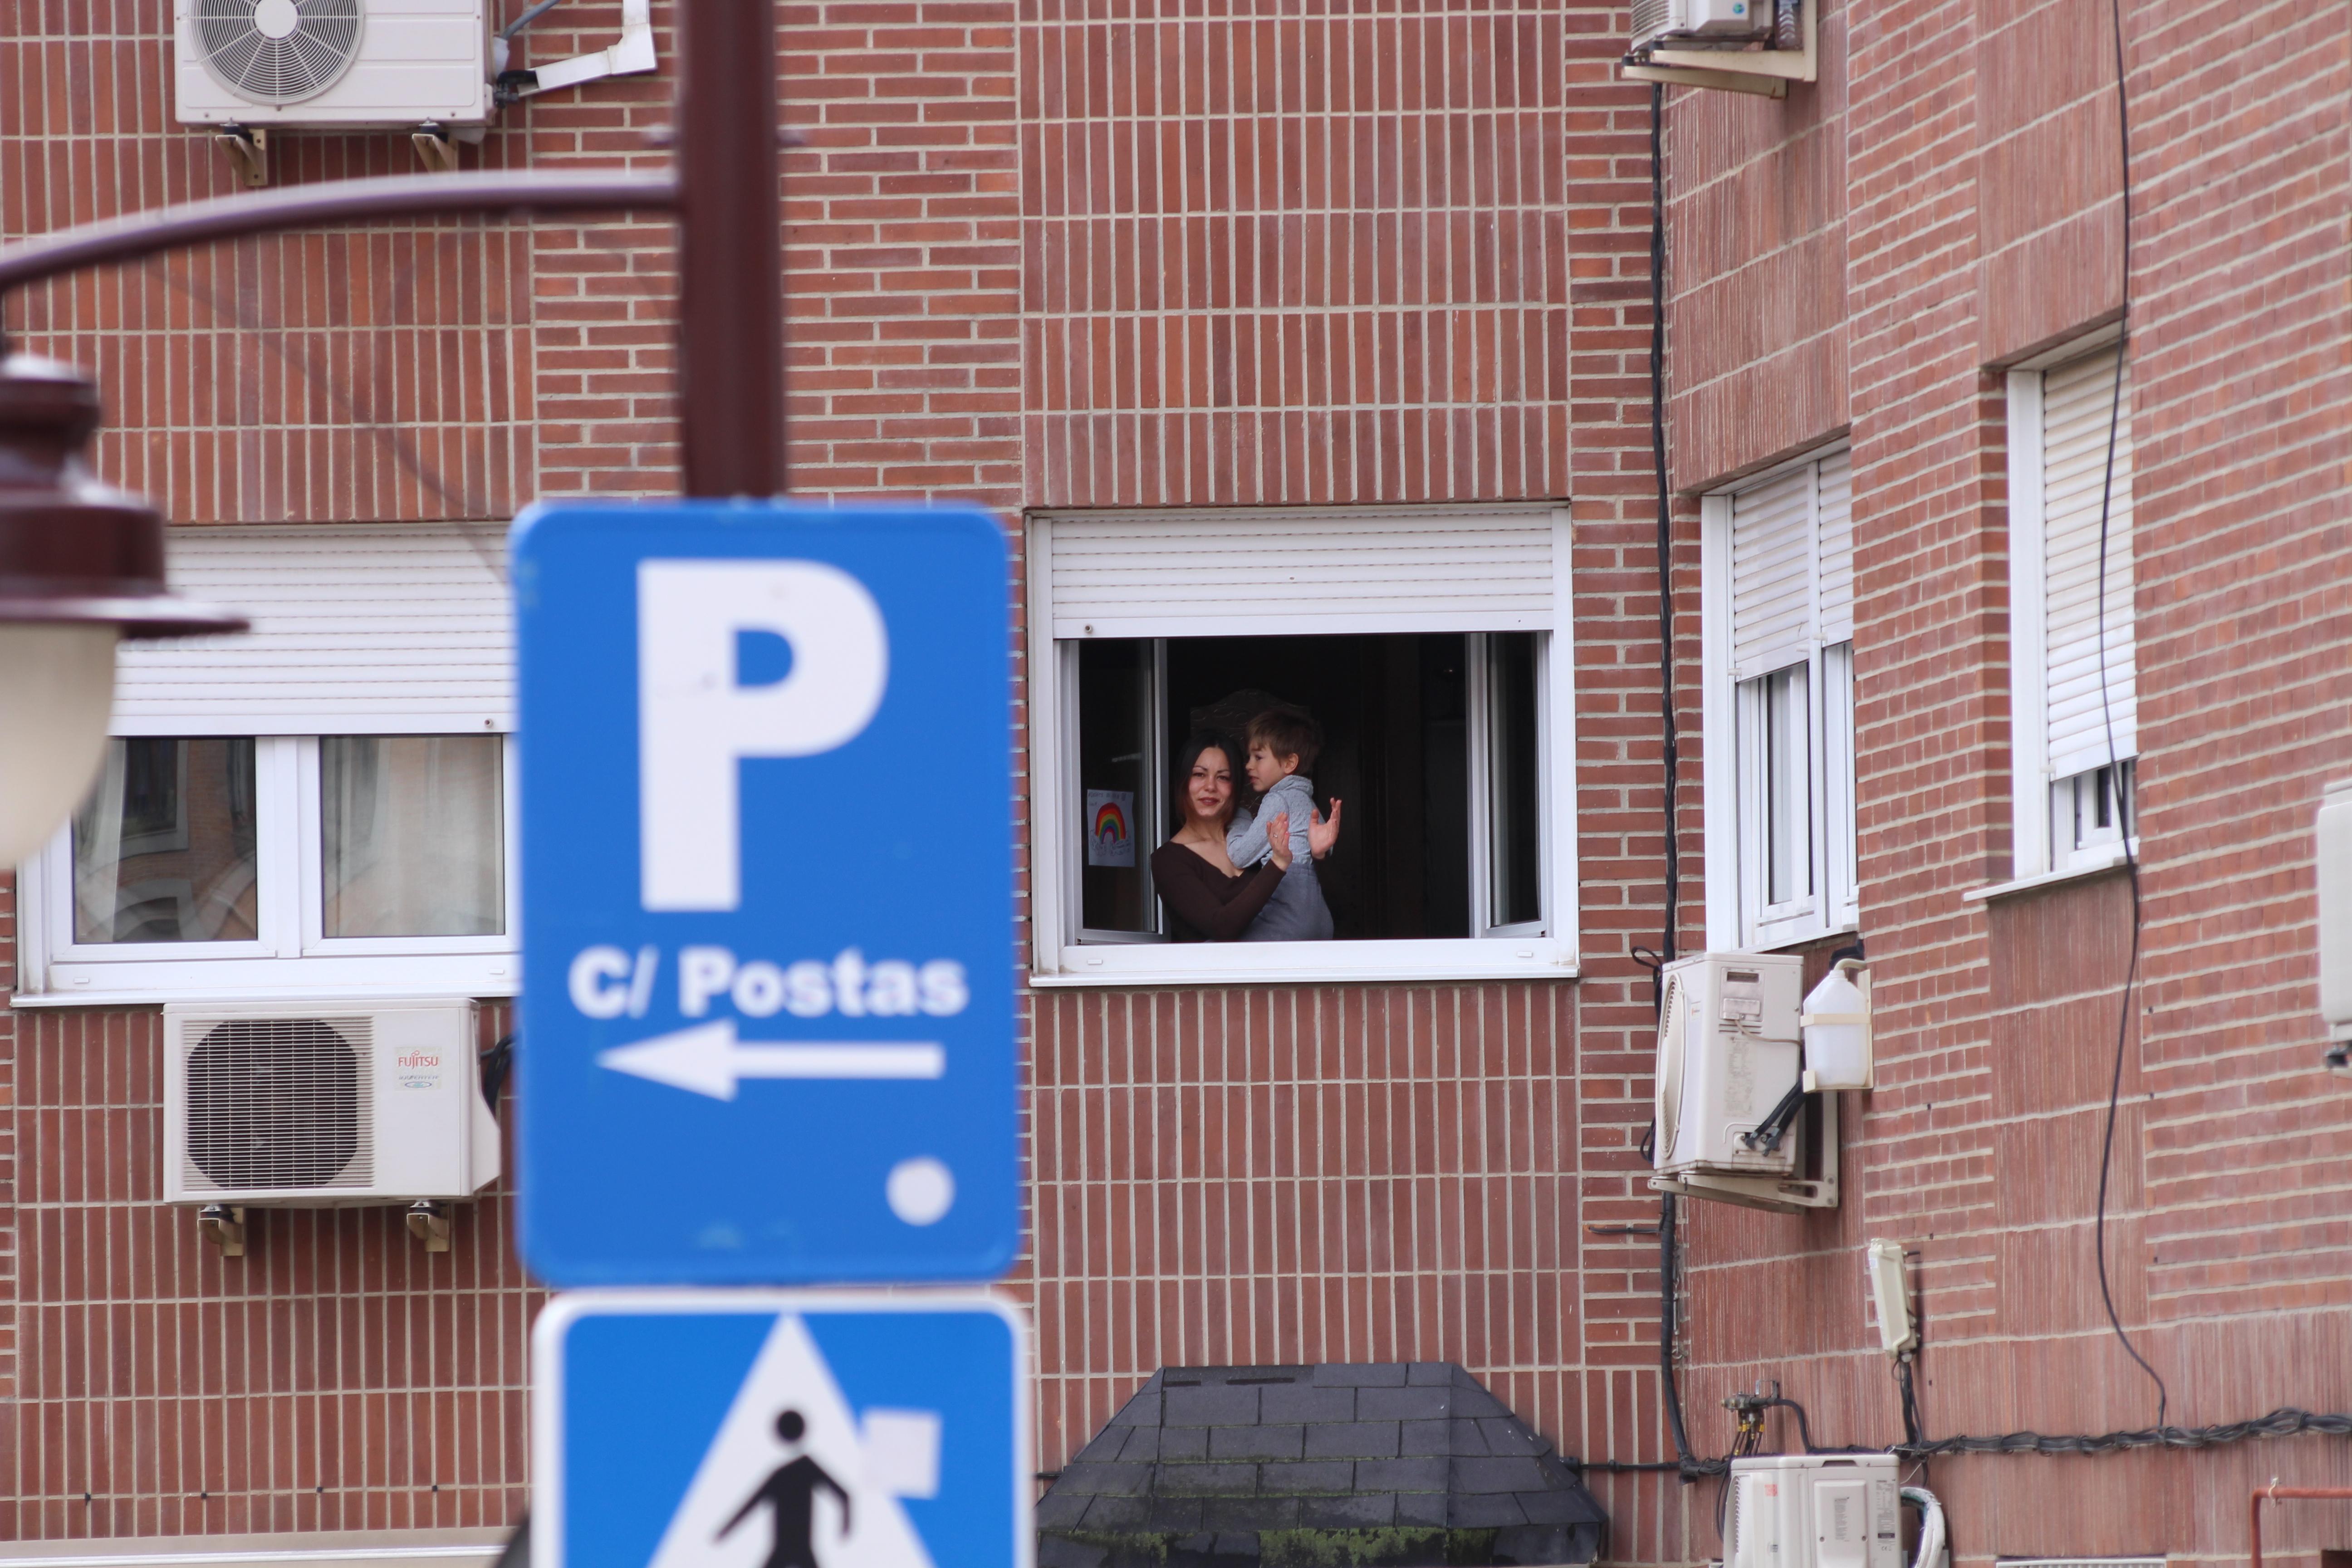
<svg viewBox="0 0 2352 1568"><path fill-rule="evenodd" d="M179 122L416 129L496 115L489 0L174 0Z"/></svg>

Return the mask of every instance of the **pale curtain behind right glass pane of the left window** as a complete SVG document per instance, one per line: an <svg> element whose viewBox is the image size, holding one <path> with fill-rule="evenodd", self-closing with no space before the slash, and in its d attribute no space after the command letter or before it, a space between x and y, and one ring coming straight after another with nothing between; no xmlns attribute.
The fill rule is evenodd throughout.
<svg viewBox="0 0 2352 1568"><path fill-rule="evenodd" d="M325 936L506 931L499 736L318 743Z"/></svg>

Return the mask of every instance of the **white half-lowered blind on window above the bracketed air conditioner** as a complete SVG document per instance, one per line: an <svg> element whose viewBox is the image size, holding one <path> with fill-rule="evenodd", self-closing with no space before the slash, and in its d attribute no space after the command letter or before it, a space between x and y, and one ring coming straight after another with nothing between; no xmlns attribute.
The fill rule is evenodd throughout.
<svg viewBox="0 0 2352 1568"><path fill-rule="evenodd" d="M1839 451L1731 496L1731 679L1853 637L1851 489Z"/></svg>

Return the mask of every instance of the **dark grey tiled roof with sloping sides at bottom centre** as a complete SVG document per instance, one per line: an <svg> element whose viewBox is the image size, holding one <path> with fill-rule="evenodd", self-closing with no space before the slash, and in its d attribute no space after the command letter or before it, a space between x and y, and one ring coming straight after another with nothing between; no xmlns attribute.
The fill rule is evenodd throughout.
<svg viewBox="0 0 2352 1568"><path fill-rule="evenodd" d="M1040 1497L1037 1568L1534 1568L1606 1528L1451 1361L1164 1366Z"/></svg>

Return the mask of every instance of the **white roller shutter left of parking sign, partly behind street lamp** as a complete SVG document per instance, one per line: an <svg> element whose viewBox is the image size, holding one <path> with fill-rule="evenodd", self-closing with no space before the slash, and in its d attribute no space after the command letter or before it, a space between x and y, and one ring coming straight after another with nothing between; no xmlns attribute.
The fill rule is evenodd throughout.
<svg viewBox="0 0 2352 1568"><path fill-rule="evenodd" d="M122 644L115 733L513 729L503 524L169 531L172 585L242 609L242 637Z"/></svg>

